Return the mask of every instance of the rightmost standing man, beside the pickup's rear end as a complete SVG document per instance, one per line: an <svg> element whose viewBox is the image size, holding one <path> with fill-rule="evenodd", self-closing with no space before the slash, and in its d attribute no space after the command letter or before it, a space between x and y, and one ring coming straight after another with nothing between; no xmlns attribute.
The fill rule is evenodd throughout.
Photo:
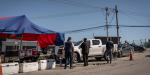
<svg viewBox="0 0 150 75"><path fill-rule="evenodd" d="M110 63L111 63L111 61L112 61L112 51L114 52L114 43L113 43L111 37L109 38L109 41L107 41L107 43L106 43L106 51L107 51L107 63L109 63L109 60L110 60ZM110 59L108 59L108 57Z"/></svg>

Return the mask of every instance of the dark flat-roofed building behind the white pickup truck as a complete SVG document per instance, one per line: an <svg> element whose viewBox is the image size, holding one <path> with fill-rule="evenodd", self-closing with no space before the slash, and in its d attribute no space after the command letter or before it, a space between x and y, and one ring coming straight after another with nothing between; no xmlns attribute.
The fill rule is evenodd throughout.
<svg viewBox="0 0 150 75"><path fill-rule="evenodd" d="M102 44L106 44L107 42L107 37L104 37L104 36L95 36L94 37L95 39L101 39L102 41ZM118 44L118 37L111 37L112 38L112 41L114 42L114 44ZM119 37L119 40L120 40L121 37Z"/></svg>

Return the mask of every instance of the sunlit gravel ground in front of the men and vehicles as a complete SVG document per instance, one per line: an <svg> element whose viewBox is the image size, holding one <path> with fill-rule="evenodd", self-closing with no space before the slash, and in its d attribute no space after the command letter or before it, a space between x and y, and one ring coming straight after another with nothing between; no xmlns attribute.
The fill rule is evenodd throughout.
<svg viewBox="0 0 150 75"><path fill-rule="evenodd" d="M150 75L150 48L145 52L136 52L133 54L133 61L129 56L117 58L112 64L106 61L96 61L89 58L89 66L83 67L83 61L74 64L74 69L63 69L63 66L57 64L55 69L35 71L28 73L19 73L15 75ZM96 64L96 65L95 65Z"/></svg>

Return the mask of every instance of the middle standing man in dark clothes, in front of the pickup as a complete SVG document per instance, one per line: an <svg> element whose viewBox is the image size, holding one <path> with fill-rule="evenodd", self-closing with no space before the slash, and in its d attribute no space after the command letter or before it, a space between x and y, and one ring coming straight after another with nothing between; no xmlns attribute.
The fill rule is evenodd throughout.
<svg viewBox="0 0 150 75"><path fill-rule="evenodd" d="M86 38L84 38L84 42L81 44L81 48L82 48L84 66L88 66L88 54L89 54L90 44L89 42L87 42Z"/></svg>

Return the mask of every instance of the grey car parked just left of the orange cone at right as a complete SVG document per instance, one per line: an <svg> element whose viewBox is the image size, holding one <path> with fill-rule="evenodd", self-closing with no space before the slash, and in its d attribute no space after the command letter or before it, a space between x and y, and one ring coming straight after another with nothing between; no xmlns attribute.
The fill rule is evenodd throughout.
<svg viewBox="0 0 150 75"><path fill-rule="evenodd" d="M134 47L129 44L119 44L118 45L118 57L130 55L130 49L132 50L132 54L134 54Z"/></svg>

